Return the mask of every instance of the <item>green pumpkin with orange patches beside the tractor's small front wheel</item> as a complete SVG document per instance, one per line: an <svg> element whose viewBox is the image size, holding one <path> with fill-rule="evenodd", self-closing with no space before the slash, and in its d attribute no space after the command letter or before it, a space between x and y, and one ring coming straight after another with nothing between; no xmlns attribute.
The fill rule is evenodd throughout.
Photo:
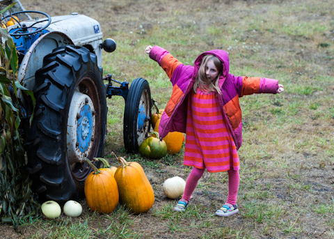
<svg viewBox="0 0 334 239"><path fill-rule="evenodd" d="M148 157L152 159L160 159L161 157L166 156L167 154L167 146L166 142L159 139L158 132L150 133L151 136L143 141L143 144L139 147L139 153L143 157ZM153 137L154 134L156 137Z"/></svg>

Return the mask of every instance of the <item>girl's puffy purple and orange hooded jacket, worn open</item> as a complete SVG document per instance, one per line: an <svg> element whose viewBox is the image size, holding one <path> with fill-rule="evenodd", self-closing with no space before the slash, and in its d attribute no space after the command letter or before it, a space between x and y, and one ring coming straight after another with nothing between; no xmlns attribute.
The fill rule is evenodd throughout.
<svg viewBox="0 0 334 239"><path fill-rule="evenodd" d="M157 61L173 84L173 93L161 116L159 134L166 137L168 132L186 132L187 97L192 91L196 75L203 56L213 54L223 63L223 75L219 78L221 95L218 100L223 116L228 118L228 126L232 132L237 149L242 143L242 121L239 98L253 93L277 93L278 80L260 77L237 77L228 72L228 53L221 49L203 52L194 65L184 65L177 61L166 49L155 46L150 51L150 58Z"/></svg>

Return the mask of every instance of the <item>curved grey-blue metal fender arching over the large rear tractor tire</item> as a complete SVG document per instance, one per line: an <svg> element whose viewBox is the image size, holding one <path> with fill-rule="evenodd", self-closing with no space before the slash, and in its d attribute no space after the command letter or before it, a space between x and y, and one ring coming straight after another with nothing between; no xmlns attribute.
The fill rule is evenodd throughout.
<svg viewBox="0 0 334 239"><path fill-rule="evenodd" d="M49 32L38 38L26 52L19 66L19 72L17 73L19 83L29 90L33 90L35 72L42 68L44 57L50 54L53 49L65 45L74 45L74 43L67 35L59 31Z"/></svg>

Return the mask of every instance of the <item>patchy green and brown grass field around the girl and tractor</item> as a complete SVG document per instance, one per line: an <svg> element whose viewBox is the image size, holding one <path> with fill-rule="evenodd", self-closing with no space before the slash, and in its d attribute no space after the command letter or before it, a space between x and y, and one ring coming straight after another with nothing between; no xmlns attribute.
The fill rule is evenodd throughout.
<svg viewBox="0 0 334 239"><path fill-rule="evenodd" d="M24 221L15 231L0 224L3 238L334 238L334 8L333 1L52 1L22 0L27 10L49 15L78 12L98 20L116 52L104 52L104 74L132 82L148 79L163 109L172 87L144 49L159 45L184 64L209 49L224 49L230 73L278 79L279 95L240 99L244 143L240 213L214 215L228 194L226 173L200 179L186 213L173 211L162 183L186 180L191 168L182 151L161 160L125 152L124 100L108 100L105 155L139 162L154 189L148 213L131 215L119 206L110 215L88 210L78 218Z"/></svg>

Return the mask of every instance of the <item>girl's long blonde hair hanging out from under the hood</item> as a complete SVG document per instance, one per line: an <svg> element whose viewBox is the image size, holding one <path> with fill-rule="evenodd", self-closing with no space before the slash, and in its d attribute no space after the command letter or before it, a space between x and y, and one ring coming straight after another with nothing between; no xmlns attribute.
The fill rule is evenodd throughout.
<svg viewBox="0 0 334 239"><path fill-rule="evenodd" d="M214 82L207 78L207 74L205 73L207 62L210 60L214 61L214 65L218 70L218 75L216 79L214 79ZM197 93L197 88L200 88L200 91L202 92L210 93L216 91L220 95L221 89L219 88L219 77L221 77L221 75L223 75L223 63L221 60L214 55L205 55L200 63L200 69L196 75L196 81L193 84L193 91Z"/></svg>

